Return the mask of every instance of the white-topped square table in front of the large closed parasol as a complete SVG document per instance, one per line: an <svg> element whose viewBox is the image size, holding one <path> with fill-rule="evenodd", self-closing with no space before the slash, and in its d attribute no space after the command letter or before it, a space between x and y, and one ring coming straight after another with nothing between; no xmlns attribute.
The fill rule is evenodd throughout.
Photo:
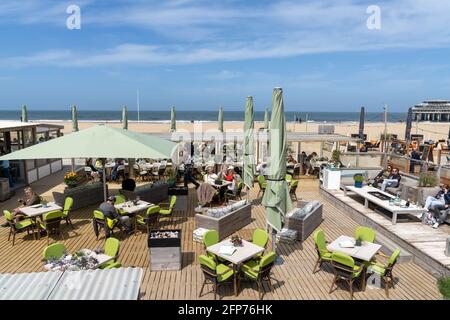
<svg viewBox="0 0 450 320"><path fill-rule="evenodd" d="M206 248L206 251L211 252L215 254L216 256L229 261L233 264L233 270L234 270L234 295L238 295L238 288L237 288L237 277L239 274L239 271L241 269L242 263L245 261L248 261L261 252L264 252L264 248L257 246L256 244L253 244L249 241L242 239L242 245L238 247L234 247L236 250L233 252L233 254L228 255L224 254L221 250L221 247L234 247L233 243L230 239L223 240L219 243L216 243L212 246L209 246Z"/></svg>

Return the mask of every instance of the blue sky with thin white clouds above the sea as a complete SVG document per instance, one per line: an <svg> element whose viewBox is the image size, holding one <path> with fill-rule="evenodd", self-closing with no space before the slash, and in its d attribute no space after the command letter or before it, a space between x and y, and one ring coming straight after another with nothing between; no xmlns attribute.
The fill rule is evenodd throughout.
<svg viewBox="0 0 450 320"><path fill-rule="evenodd" d="M66 8L81 8L68 30ZM381 29L369 30L369 5ZM450 99L450 1L1 0L0 108L298 111Z"/></svg>

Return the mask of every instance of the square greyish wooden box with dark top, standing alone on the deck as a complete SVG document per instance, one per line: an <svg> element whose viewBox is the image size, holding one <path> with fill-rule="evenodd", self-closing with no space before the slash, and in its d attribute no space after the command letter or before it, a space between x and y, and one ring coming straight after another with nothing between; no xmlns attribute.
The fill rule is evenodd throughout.
<svg viewBox="0 0 450 320"><path fill-rule="evenodd" d="M151 234L158 231L177 231L178 238L152 239ZM181 229L150 231L148 248L152 271L181 270Z"/></svg>

